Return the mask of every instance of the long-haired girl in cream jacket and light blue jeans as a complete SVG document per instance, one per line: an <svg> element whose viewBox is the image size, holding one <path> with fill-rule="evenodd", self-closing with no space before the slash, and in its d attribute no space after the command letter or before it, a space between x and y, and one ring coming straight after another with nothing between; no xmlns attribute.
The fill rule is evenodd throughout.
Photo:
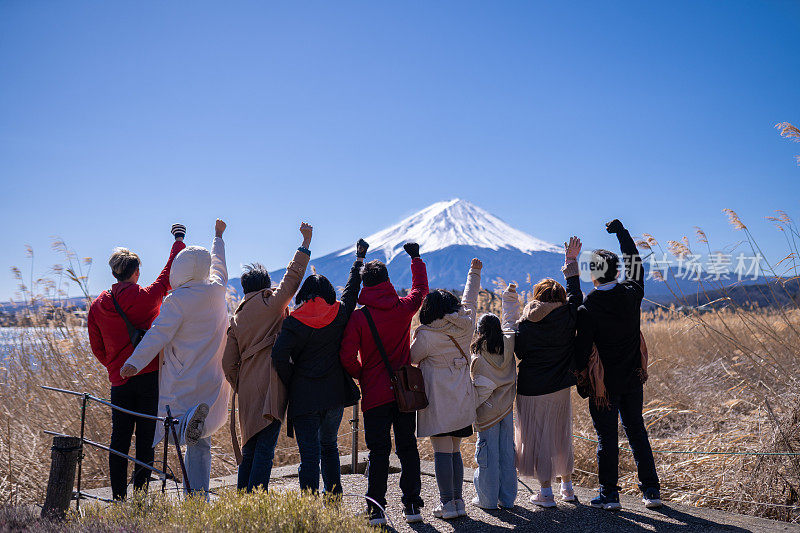
<svg viewBox="0 0 800 533"><path fill-rule="evenodd" d="M470 345L470 373L477 394L478 440L475 442L473 482L478 495L472 504L482 509L514 507L517 469L514 457L514 396L517 365L514 361L514 327L519 317L519 296L511 284L502 296L503 321L483 315Z"/></svg>

